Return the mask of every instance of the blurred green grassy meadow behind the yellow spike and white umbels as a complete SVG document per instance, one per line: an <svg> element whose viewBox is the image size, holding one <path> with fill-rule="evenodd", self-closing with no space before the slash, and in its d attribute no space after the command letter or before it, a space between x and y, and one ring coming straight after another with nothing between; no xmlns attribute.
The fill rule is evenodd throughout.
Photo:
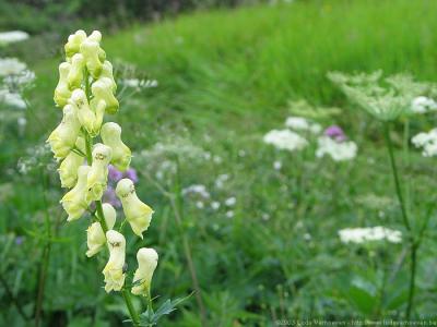
<svg viewBox="0 0 437 327"><path fill-rule="evenodd" d="M157 250L157 302L197 289L189 246L203 326L402 318L404 242L344 244L338 235L350 227L404 229L380 126L327 73L381 69L437 82L437 1L94 2L0 4L0 29L31 34L1 47L0 57L19 58L36 75L24 128L0 107L0 325L31 326L36 314L42 326L119 326L126 317L121 298L102 288L105 257L85 256L90 221L66 222L44 148L61 116L52 93L62 46L78 28L103 33L120 78L158 82L119 94L116 117L135 155L138 193L155 210L144 240L128 244L128 263L135 265L140 245ZM287 153L264 144L296 108L300 116L331 112L318 122L342 126L357 157L335 162L311 147ZM433 114L417 117L410 129L434 124ZM418 220L435 202L436 168L418 150L401 150L403 128L391 136ZM199 184L208 195L187 191ZM414 318L437 318L435 227L433 216L418 253ZM200 306L191 296L160 325L201 326Z"/></svg>

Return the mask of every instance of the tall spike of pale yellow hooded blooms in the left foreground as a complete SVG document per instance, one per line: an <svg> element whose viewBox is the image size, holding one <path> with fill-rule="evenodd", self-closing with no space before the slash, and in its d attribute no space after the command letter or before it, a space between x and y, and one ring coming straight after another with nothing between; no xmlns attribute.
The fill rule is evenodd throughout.
<svg viewBox="0 0 437 327"><path fill-rule="evenodd" d="M115 229L116 209L110 203L102 203L108 175L117 183L115 195L122 205L127 222L141 239L153 210L137 196L134 182L138 179L129 168L132 155L121 141L121 126L115 122L104 123L105 113L116 113L119 104L115 97L117 84L113 65L106 60L101 40L98 31L88 36L78 31L68 38L64 46L67 60L59 65L59 83L54 97L63 118L47 142L60 161L61 185L69 189L61 199L68 221L80 219L86 211L91 211L96 220L86 231L86 255L95 255L105 244L109 250L103 274L105 290L110 292L125 288L126 239ZM98 136L101 142L93 146ZM91 209L93 207L95 211ZM157 254L153 249L144 247L138 251L137 258L139 267L131 292L146 296Z"/></svg>

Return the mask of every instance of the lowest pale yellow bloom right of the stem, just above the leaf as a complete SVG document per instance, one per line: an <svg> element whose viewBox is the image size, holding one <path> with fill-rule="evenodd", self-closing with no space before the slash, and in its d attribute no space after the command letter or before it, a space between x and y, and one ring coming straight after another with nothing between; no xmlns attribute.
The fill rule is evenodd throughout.
<svg viewBox="0 0 437 327"><path fill-rule="evenodd" d="M132 294L147 296L153 272L157 266L157 253L153 249L142 247L137 253L138 269L133 275Z"/></svg>

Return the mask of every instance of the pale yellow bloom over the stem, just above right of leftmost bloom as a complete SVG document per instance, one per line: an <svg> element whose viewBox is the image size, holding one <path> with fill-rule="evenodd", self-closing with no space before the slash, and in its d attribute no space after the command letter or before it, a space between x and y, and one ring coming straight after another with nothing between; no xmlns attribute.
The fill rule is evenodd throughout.
<svg viewBox="0 0 437 327"><path fill-rule="evenodd" d="M72 106L75 106L78 119L86 132L88 132L92 136L97 135L103 121L103 114L99 112L99 117L97 117L96 112L91 110L88 100L86 99L86 95L83 89L74 89L71 94L69 102Z"/></svg>

